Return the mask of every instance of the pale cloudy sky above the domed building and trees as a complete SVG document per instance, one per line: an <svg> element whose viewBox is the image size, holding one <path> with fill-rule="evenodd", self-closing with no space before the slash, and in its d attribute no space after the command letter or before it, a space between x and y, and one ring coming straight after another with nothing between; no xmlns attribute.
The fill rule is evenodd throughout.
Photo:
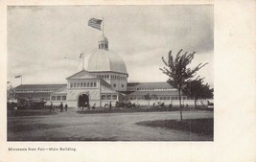
<svg viewBox="0 0 256 162"><path fill-rule="evenodd" d="M159 68L172 50L196 52L191 67L214 86L212 5L38 6L8 8L8 81L20 84L66 83L98 49L101 31L88 26L103 18L109 51L124 59L128 81L167 81Z"/></svg>

